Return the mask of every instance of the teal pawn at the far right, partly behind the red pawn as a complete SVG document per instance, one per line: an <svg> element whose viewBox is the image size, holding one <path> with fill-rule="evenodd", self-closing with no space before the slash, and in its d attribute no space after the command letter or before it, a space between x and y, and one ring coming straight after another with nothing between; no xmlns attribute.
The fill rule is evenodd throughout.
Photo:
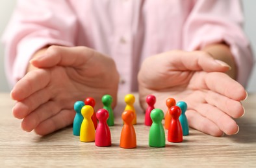
<svg viewBox="0 0 256 168"><path fill-rule="evenodd" d="M185 101L179 101L177 106L181 108L181 116L179 116L179 121L181 122L183 136L189 134L188 120L186 119L186 109L188 109L188 105L186 105Z"/></svg>

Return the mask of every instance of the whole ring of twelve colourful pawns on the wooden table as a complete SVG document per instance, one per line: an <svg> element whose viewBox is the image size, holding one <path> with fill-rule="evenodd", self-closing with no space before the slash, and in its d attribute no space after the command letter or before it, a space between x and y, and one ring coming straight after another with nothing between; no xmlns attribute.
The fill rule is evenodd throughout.
<svg viewBox="0 0 256 168"><path fill-rule="evenodd" d="M127 94L125 96L125 103L127 105L122 113L123 129L120 137L120 147L126 149L136 147L136 132L133 127L136 124L134 102L135 98L133 94ZM186 103L179 101L176 104L173 98L166 100L168 111L166 112L163 127L162 119L164 118L164 112L161 109L155 109L155 96L148 95L146 102L148 107L145 114L145 125L151 126L149 130L149 146L165 146L164 127L168 129L169 142L182 142L183 135L188 135L188 121L185 116L187 109ZM95 141L96 146L99 147L111 145L109 126L114 125L114 113L111 107L112 96L109 94L103 96L102 103L103 109L95 112L94 106L96 102L94 98L86 98L84 101L75 102L74 109L76 115L73 121L73 134L80 136L81 142Z"/></svg>

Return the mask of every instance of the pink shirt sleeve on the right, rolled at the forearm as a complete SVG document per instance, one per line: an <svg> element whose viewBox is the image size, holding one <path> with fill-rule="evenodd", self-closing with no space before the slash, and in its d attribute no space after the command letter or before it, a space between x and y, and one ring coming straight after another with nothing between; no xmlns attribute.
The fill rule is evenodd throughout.
<svg viewBox="0 0 256 168"><path fill-rule="evenodd" d="M238 0L198 0L183 29L183 47L198 50L225 42L237 64L237 81L246 87L253 67L250 42L242 29L244 18Z"/></svg>

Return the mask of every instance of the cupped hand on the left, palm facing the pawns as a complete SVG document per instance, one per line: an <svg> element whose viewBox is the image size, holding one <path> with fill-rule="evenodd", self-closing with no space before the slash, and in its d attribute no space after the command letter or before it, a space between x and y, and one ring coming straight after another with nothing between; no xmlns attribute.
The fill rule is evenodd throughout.
<svg viewBox="0 0 256 168"><path fill-rule="evenodd" d="M12 112L25 131L45 135L70 125L73 103L110 94L116 103L119 75L114 61L86 47L52 46L31 60L34 67L16 83Z"/></svg>

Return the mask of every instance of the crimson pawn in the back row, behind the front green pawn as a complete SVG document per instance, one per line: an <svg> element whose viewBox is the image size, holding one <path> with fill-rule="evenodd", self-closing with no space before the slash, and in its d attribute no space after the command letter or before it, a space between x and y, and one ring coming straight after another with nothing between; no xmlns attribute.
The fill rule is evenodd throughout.
<svg viewBox="0 0 256 168"><path fill-rule="evenodd" d="M152 120L150 117L150 113L153 109L155 109L154 105L155 105L155 96L153 95L148 95L146 98L146 102L147 102L147 109L146 109L146 113L145 113L145 125L147 126L151 126L152 125Z"/></svg>

